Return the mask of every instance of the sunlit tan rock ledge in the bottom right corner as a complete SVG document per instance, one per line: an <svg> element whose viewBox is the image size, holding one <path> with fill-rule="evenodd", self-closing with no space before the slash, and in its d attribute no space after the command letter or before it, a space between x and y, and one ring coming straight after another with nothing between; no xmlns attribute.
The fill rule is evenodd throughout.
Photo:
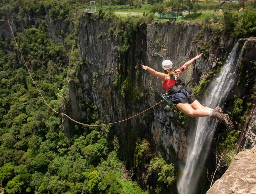
<svg viewBox="0 0 256 194"><path fill-rule="evenodd" d="M225 174L207 194L256 193L256 146L237 154Z"/></svg>

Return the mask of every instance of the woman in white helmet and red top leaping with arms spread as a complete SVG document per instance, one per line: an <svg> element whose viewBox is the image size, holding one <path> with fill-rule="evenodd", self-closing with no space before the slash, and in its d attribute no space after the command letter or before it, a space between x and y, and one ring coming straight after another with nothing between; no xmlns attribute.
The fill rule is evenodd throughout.
<svg viewBox="0 0 256 194"><path fill-rule="evenodd" d="M181 74L185 69L191 65L196 59L202 56L195 56L193 59L186 62L183 66L177 70L173 70L173 63L170 60L164 60L162 62L162 68L165 73L155 71L154 69L141 65L144 70L147 70L155 77L162 78L163 88L171 94L170 99L172 103L176 105L178 110L190 117L206 117L214 119L217 118L221 123L223 123L229 130L233 129L233 123L230 120L228 114L223 114L222 109L217 106L212 110L209 107L202 106L196 98L190 94L186 87L179 83L179 74Z"/></svg>

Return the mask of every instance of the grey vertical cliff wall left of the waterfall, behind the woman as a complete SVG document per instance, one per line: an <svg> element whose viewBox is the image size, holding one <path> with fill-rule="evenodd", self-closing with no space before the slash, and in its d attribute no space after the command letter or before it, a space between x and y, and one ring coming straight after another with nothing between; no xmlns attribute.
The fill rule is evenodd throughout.
<svg viewBox="0 0 256 194"><path fill-rule="evenodd" d="M198 83L200 78L204 77L219 60L225 59L234 41L231 38L219 37L212 32L205 32L204 35L198 36L201 27L195 24L181 25L177 22L141 24L134 35L133 44L136 43L136 46L130 43L130 48L136 47L136 53L131 49L125 53L127 59L125 65L128 67L125 70L126 78L129 73L132 77L139 74L143 95L143 98L137 102L131 102L129 99L122 98L119 88L113 86L113 82L117 80L116 75L122 73L118 50L121 43L119 37L109 33L110 27L115 30L113 20L93 21L88 17L80 20L79 54L89 62L89 65L76 69L80 80L79 85L69 82L72 104L72 112L69 112L69 115L75 119L87 116L81 107L89 99L97 105L103 123L115 122L140 113L161 101L161 94L165 91L162 89L161 79L145 71L134 71L141 68L138 66L139 63L162 71L160 64L163 58L160 56L163 55L165 59L171 59L174 66L179 67L198 54L199 46L204 45L207 50L205 58L191 65L181 77L185 82L192 80L192 84ZM137 60L135 58L131 61L130 58L134 55L137 55ZM132 84L135 87L134 82L133 80ZM114 131L125 142L131 128L142 130L140 133L152 135L155 143L166 150L167 158L169 149L173 147L178 158L185 160L190 129L177 120L177 115L174 115L173 111L165 110L163 108L165 105L162 103L147 113L113 125ZM66 122L69 123L68 120ZM67 123L65 126L69 126ZM68 134L68 128L65 128L65 131Z"/></svg>

